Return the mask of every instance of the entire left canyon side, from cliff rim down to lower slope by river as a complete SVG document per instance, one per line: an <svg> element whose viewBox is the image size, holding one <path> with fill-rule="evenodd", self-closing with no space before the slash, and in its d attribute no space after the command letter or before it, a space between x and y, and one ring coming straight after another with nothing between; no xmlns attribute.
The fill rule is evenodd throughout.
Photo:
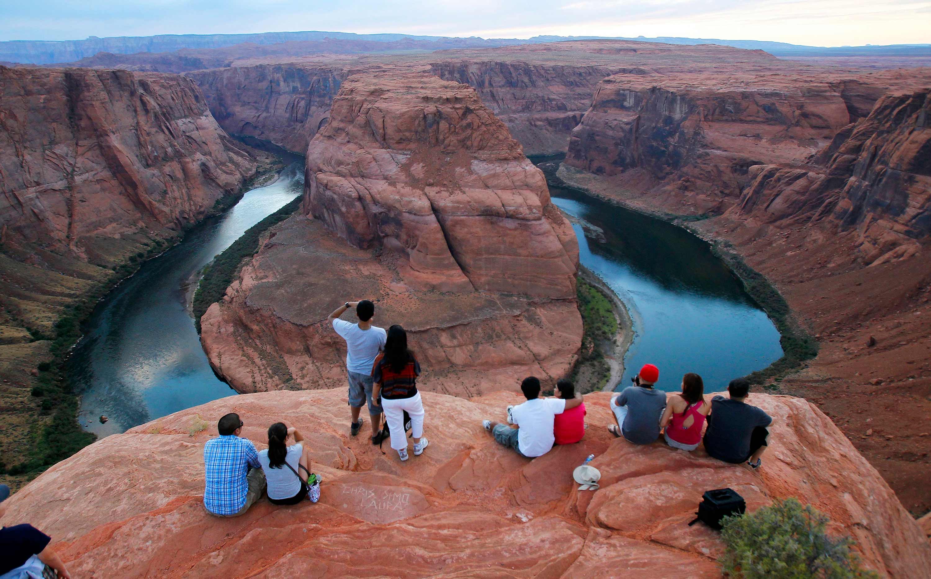
<svg viewBox="0 0 931 579"><path fill-rule="evenodd" d="M125 71L0 67L0 151L0 457L14 466L51 419L30 392L56 322L256 164L190 80Z"/></svg>

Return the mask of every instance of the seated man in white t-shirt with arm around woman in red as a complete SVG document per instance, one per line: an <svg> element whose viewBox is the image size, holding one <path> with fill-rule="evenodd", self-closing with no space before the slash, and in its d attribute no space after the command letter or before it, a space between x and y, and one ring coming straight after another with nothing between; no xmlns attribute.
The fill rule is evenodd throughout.
<svg viewBox="0 0 931 579"><path fill-rule="evenodd" d="M576 393L571 400L540 398L540 380L534 376L524 378L520 389L527 401L507 407L507 422L518 428L509 428L492 420L483 421L482 426L492 432L495 441L513 448L522 456L543 456L556 441L553 417L581 404L582 397Z"/></svg>

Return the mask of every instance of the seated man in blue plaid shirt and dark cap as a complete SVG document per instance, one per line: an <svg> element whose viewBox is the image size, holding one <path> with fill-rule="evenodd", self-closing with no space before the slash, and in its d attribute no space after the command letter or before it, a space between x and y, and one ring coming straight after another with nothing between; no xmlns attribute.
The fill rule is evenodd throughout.
<svg viewBox="0 0 931 579"><path fill-rule="evenodd" d="M225 415L217 424L220 436L204 444L204 507L211 515L238 517L265 490L259 454L252 441L239 438L242 427L239 415Z"/></svg>

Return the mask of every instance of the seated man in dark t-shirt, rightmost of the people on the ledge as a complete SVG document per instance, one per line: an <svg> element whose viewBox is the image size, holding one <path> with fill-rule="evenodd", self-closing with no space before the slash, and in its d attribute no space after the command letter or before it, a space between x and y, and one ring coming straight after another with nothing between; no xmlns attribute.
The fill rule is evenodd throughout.
<svg viewBox="0 0 931 579"><path fill-rule="evenodd" d="M749 390L750 383L737 378L727 387L730 399L723 396L711 399L705 450L718 460L735 465L747 462L750 467L759 468L769 438L767 427L773 419L746 402Z"/></svg>

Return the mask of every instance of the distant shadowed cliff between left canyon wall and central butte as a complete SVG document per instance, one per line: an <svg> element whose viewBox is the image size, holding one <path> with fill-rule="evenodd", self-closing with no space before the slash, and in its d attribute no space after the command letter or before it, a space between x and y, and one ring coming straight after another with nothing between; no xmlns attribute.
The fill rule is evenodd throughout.
<svg viewBox="0 0 931 579"><path fill-rule="evenodd" d="M228 133L270 140L304 154L327 123L344 66L260 64L189 72Z"/></svg>

